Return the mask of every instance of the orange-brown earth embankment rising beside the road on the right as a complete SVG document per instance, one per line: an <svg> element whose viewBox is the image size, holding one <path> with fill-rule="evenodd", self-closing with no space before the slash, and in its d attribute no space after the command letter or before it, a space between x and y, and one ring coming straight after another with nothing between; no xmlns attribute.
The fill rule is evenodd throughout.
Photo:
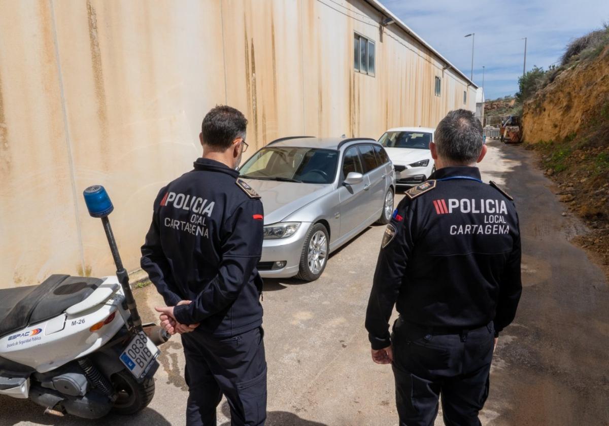
<svg viewBox="0 0 609 426"><path fill-rule="evenodd" d="M524 141L540 152L561 201L588 223L577 241L609 276L609 44L552 71L546 84L524 103Z"/></svg>

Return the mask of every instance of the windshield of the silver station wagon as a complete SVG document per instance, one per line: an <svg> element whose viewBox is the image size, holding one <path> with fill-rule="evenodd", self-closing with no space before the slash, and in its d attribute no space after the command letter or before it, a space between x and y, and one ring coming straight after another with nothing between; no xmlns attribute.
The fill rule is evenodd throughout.
<svg viewBox="0 0 609 426"><path fill-rule="evenodd" d="M304 147L262 148L239 169L244 178L298 183L332 183L339 153Z"/></svg>

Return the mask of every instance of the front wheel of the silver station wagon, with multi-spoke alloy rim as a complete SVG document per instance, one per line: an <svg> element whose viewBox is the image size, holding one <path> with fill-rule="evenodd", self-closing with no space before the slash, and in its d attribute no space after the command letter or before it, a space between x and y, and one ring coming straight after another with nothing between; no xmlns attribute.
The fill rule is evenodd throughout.
<svg viewBox="0 0 609 426"><path fill-rule="evenodd" d="M297 278L315 281L322 276L328 260L328 248L328 230L321 223L315 223L305 239Z"/></svg>

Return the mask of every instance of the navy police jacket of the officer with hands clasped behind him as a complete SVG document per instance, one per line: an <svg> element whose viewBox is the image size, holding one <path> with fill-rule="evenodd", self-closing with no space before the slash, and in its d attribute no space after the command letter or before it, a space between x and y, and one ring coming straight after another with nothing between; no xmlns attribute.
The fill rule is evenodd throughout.
<svg viewBox="0 0 609 426"><path fill-rule="evenodd" d="M228 337L262 324L263 211L239 172L199 158L154 201L141 267L181 324Z"/></svg>

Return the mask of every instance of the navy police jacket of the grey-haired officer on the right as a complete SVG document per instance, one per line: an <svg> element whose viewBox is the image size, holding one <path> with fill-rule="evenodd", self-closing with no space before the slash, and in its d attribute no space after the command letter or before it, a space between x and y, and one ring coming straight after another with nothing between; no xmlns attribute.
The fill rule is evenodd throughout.
<svg viewBox="0 0 609 426"><path fill-rule="evenodd" d="M390 345L393 305L409 323L442 329L510 324L522 290L512 198L477 167L446 167L411 188L385 229L368 301L373 349Z"/></svg>

